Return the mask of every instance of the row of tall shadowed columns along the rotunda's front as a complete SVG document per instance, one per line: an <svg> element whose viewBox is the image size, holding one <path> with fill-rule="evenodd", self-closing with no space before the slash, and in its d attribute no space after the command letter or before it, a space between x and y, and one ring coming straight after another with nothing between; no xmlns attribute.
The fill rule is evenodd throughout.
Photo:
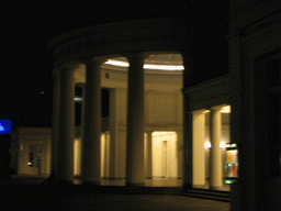
<svg viewBox="0 0 281 211"><path fill-rule="evenodd" d="M144 186L144 53L125 55L130 63L127 93L126 186ZM87 58L85 107L82 108L83 184L100 185L101 65ZM54 76L52 174L74 180L75 64L56 67ZM147 174L151 174L150 167Z"/></svg>

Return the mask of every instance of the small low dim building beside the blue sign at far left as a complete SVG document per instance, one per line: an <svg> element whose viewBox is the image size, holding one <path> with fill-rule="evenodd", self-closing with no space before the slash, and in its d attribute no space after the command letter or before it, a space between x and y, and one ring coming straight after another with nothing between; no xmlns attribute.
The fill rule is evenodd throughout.
<svg viewBox="0 0 281 211"><path fill-rule="evenodd" d="M50 131L49 127L24 126L10 131L10 167L15 174L50 174Z"/></svg>

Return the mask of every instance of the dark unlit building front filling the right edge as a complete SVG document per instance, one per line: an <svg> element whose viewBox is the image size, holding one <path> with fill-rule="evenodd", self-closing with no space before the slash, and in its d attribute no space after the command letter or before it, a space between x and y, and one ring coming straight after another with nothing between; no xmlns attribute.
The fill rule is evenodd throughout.
<svg viewBox="0 0 281 211"><path fill-rule="evenodd" d="M231 138L238 143L236 209L280 210L279 1L229 2ZM237 206L237 207L236 207Z"/></svg>

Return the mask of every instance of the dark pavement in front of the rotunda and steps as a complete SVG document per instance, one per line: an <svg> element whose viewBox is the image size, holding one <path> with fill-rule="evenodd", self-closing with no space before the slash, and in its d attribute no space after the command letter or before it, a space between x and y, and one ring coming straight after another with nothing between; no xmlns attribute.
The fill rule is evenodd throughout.
<svg viewBox="0 0 281 211"><path fill-rule="evenodd" d="M159 190L159 191L157 191ZM161 190L161 191L160 191ZM97 187L27 178L0 182L4 210L228 211L229 202L193 198L168 189Z"/></svg>

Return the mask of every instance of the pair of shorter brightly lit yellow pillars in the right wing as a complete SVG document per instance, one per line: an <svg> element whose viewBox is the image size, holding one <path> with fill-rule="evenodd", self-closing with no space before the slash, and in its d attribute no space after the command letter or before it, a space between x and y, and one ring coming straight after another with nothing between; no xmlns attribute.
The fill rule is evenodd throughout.
<svg viewBox="0 0 281 211"><path fill-rule="evenodd" d="M221 110L225 106L212 107L209 110L196 110L192 112L192 184L204 186L205 182L205 113L210 112L210 141L211 141L211 170L210 188L220 189L223 186L222 164L222 115Z"/></svg>

